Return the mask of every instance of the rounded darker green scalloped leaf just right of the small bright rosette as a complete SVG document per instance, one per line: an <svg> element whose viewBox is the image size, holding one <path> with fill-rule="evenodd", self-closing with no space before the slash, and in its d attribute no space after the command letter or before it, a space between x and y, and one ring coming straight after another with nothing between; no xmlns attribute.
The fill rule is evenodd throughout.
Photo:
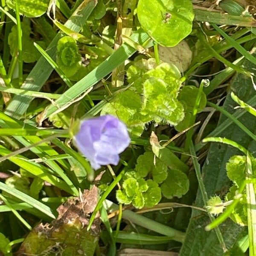
<svg viewBox="0 0 256 256"><path fill-rule="evenodd" d="M180 170L169 170L168 177L161 185L161 191L166 198L181 198L189 191L189 179Z"/></svg>

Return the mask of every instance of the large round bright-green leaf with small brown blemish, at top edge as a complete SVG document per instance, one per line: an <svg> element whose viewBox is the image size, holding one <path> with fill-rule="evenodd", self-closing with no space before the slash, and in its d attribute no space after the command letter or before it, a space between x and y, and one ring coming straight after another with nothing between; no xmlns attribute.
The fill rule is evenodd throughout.
<svg viewBox="0 0 256 256"><path fill-rule="evenodd" d="M192 31L191 0L139 0L138 19L158 44L174 47Z"/></svg>

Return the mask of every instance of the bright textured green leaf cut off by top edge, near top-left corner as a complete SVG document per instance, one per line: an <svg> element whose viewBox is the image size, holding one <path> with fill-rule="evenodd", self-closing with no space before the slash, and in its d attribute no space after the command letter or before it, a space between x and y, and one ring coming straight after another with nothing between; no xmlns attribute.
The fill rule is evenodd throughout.
<svg viewBox="0 0 256 256"><path fill-rule="evenodd" d="M9 8L15 9L16 0L6 0ZM19 11L29 18L43 15L48 8L50 0L17 0Z"/></svg>

